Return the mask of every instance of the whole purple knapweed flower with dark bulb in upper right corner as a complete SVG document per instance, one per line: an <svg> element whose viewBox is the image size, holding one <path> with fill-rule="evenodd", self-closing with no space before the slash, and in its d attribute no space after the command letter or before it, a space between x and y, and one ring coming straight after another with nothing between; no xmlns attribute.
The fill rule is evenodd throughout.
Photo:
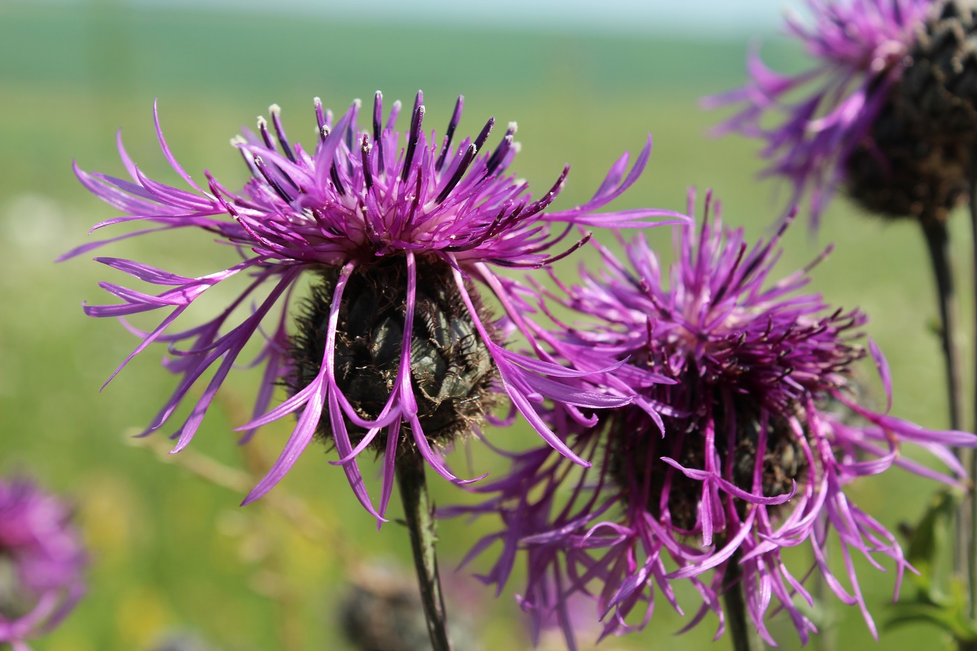
<svg viewBox="0 0 977 651"><path fill-rule="evenodd" d="M764 174L809 194L812 226L835 188L886 217L943 220L968 190L977 139L974 12L958 0L807 0L787 21L814 66L795 75L749 60L742 89L706 107L743 109L721 124L765 142Z"/></svg>

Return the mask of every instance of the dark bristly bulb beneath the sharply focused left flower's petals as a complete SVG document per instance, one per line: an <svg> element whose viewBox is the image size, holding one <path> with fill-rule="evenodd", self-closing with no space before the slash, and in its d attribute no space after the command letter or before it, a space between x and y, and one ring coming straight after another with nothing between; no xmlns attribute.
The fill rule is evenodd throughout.
<svg viewBox="0 0 977 651"><path fill-rule="evenodd" d="M292 391L307 386L319 373L338 278L336 270L320 272L312 295L295 319ZM334 353L336 382L363 418L375 418L395 388L404 337L406 281L404 258L384 259L354 271L343 294ZM468 291L477 299L474 287ZM482 316L488 326L488 315ZM417 259L410 379L418 417L433 445L445 446L495 404L491 391L495 370L488 347L461 300L451 268L436 258ZM349 420L346 426L354 441L365 434ZM328 413L319 421L319 435L332 436ZM384 450L385 436L378 436L371 445Z"/></svg>

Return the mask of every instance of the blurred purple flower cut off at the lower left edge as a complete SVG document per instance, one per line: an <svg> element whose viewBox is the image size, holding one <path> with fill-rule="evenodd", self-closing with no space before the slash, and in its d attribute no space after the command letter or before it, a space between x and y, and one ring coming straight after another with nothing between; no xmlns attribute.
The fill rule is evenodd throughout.
<svg viewBox="0 0 977 651"><path fill-rule="evenodd" d="M61 499L25 479L0 480L0 643L54 629L85 592L88 557Z"/></svg>

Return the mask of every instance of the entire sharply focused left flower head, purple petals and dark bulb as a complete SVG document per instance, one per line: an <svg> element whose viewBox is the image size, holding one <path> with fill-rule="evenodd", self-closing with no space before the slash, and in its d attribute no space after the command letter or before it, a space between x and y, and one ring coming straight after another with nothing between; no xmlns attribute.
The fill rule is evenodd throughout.
<svg viewBox="0 0 977 651"><path fill-rule="evenodd" d="M149 228L115 239L191 228L231 244L239 254L233 266L199 278L130 260L96 258L166 289L146 293L103 282L122 303L86 305L85 311L119 318L167 311L151 331L129 326L143 341L122 366L150 343L166 342L164 365L181 376L147 434L167 423L191 387L204 382L189 416L173 434L174 452L190 443L245 344L260 343L251 365L263 366L264 375L254 417L240 427L244 440L290 413L298 413L298 423L274 467L244 503L271 490L318 431L335 446L337 463L362 505L382 520L404 442L415 445L443 477L465 483L448 470L439 448L488 411L495 387L508 394L550 445L580 463L584 461L539 418L533 404L544 396L587 409L624 402L574 388L567 380L578 373L501 346L502 335L513 328L533 345L535 340L522 314L529 306L495 270L539 268L563 257L580 243L556 248L574 227L645 226L657 223L645 221L649 217L680 219L661 210L595 212L634 183L648 160L651 141L630 171L628 154L623 154L589 201L547 211L569 168L547 193L533 199L527 184L508 172L518 151L515 123L494 149L488 147L492 119L475 138L457 143L462 98L442 138L423 130L421 102L418 93L407 131L401 134L395 130L401 104L395 103L385 116L379 92L363 129L357 126L359 100L334 120L317 99L319 138L309 149L289 141L280 111L272 107L271 124L259 118L257 134L245 132L233 141L251 175L237 192L206 172L201 188L170 152L158 118L160 148L191 191L147 178L121 141L119 153L131 180L75 168L86 188L125 213L96 229L149 223ZM552 233L553 223L563 229ZM86 244L65 257L113 240ZM312 296L304 302L293 296L302 276L313 283ZM234 277L246 279L243 288L216 318L173 331L171 326L207 289ZM490 317L476 283L497 298L503 320ZM292 324L289 312L296 304L299 314ZM204 381L208 369L213 374ZM291 395L270 409L278 384L287 385ZM357 457L367 447L384 456L378 508L358 467Z"/></svg>

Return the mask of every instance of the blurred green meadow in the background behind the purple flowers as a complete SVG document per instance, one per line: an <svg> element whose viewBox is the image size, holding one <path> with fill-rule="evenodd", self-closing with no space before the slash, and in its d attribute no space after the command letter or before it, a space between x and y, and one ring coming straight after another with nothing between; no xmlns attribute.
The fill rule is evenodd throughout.
<svg viewBox="0 0 977 651"><path fill-rule="evenodd" d="M335 611L348 575L376 559L399 563L404 571L410 567L403 527L392 522L377 532L343 473L327 463L334 456L321 449L310 448L270 498L237 506L255 478L216 463L260 472L290 430L290 423L279 422L247 448L235 444L232 427L246 417L256 372L233 376L176 464L132 440L175 382L159 368L160 349L137 358L100 393L137 340L118 323L86 318L80 308L82 300L106 300L97 282L120 277L91 262L92 255L54 263L86 241L92 224L116 214L77 183L71 160L86 170L121 175L114 147L121 128L141 169L176 184L156 146L154 98L185 168L198 178L210 169L229 187L245 178L228 144L241 125L253 125L276 103L289 136L311 140L314 96L345 109L378 88L388 101L405 102L421 88L426 126L440 132L455 96L464 94L465 133L489 115L502 124L519 121L523 150L513 168L536 194L565 162L573 164L559 198L563 206L587 198L616 156L640 150L651 132L651 164L616 207L683 209L686 188L695 185L721 198L727 223L742 225L754 238L767 233L786 189L778 195L775 183L756 180L755 143L708 139L707 128L721 114L702 112L697 104L702 95L743 81L745 38L540 33L513 22L508 29L483 29L394 24L365 12L361 20L334 22L104 2L0 5L0 470L32 473L69 494L93 560L90 593L60 629L36 642L37 649L143 651L173 631L191 631L226 651L341 649ZM775 67L802 65L789 44L776 37L765 43L764 56ZM793 227L781 268L792 271L834 242L828 261L813 273L812 289L824 292L829 303L860 306L871 316L869 332L893 370L893 412L945 425L921 239L911 224L880 223L844 200L833 203L824 224L817 239L803 223ZM667 258L669 234L659 229L653 239ZM129 240L103 251L184 275L224 269L232 256L203 234L190 233ZM574 265L563 269L572 273ZM211 305L222 303L220 296L209 298ZM868 364L863 370L872 377ZM877 390L878 383L871 386ZM536 442L522 426L489 434L510 449ZM167 449L162 434L152 443ZM459 450L451 460L467 472L465 454ZM504 469L478 443L468 454L479 473ZM181 465L236 488L200 479ZM893 470L851 492L894 530L920 514L934 488ZM470 499L437 479L434 492L442 504ZM398 506L392 509L396 516ZM443 523L444 572L495 524ZM796 550L790 559L795 568L808 562L807 553ZM487 560L476 560L471 569L487 570ZM858 566L872 612L884 622L893 573L862 561ZM529 648L513 600L520 588L517 576L493 599L469 582L449 607L475 603L484 649ZM695 611L693 594L680 598L689 613ZM829 603L835 648L871 644L857 609ZM662 603L645 632L602 646L706 648L714 618L674 636L684 622ZM799 645L786 618L774 618L772 630L783 648ZM933 648L936 634L922 627L883 630L880 648ZM708 648L727 649L729 642Z"/></svg>

